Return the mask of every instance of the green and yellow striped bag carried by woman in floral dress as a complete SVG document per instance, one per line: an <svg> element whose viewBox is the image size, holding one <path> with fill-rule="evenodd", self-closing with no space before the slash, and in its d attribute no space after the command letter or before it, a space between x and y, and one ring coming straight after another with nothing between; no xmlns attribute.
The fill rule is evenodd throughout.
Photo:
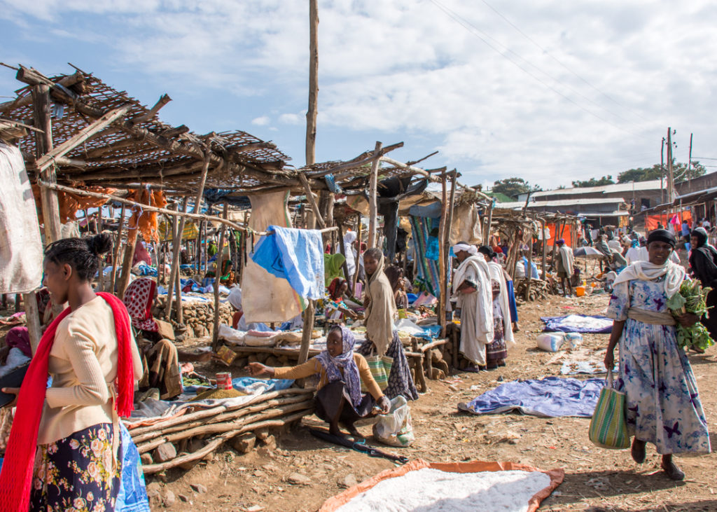
<svg viewBox="0 0 717 512"><path fill-rule="evenodd" d="M600 391L588 435L595 445L602 448L624 450L630 447L625 422L625 393L612 387L612 370L607 371L607 386Z"/></svg>

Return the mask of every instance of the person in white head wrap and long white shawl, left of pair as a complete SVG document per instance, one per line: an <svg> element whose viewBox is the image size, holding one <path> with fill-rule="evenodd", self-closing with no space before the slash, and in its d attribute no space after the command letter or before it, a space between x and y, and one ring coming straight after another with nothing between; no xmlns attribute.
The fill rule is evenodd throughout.
<svg viewBox="0 0 717 512"><path fill-rule="evenodd" d="M460 309L460 351L485 368L485 346L493 342L493 290L490 268L475 245L458 242L453 254L460 265L453 275L453 295Z"/></svg>

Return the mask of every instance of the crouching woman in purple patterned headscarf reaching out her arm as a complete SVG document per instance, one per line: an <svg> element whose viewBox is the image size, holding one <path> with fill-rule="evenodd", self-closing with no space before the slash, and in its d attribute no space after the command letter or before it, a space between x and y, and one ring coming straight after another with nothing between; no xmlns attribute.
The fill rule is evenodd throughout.
<svg viewBox="0 0 717 512"><path fill-rule="evenodd" d="M333 435L341 435L338 427L341 423L351 435L362 437L354 422L374 416L376 405L386 414L391 402L376 384L364 356L354 353L355 343L356 338L349 328L334 326L326 337L326 350L304 364L274 368L250 363L247 369L252 376L272 379L303 379L318 375L316 415L328 422L329 432ZM362 381L368 394L361 393Z"/></svg>

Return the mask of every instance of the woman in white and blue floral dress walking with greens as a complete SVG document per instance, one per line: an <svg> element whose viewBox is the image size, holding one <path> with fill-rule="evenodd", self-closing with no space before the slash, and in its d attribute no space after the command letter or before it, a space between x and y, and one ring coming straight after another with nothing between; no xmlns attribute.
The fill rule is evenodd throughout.
<svg viewBox="0 0 717 512"><path fill-rule="evenodd" d="M673 318L666 305L685 278L684 268L669 261L674 247L674 235L656 229L647 239L649 261L635 262L617 276L607 313L614 323L604 363L612 369L619 344L616 387L627 398L627 427L635 436L632 458L645 462L650 442L662 455L668 477L683 480L685 473L673 454L708 453L710 440L697 382L675 328L676 322L693 325L698 317L685 313Z"/></svg>

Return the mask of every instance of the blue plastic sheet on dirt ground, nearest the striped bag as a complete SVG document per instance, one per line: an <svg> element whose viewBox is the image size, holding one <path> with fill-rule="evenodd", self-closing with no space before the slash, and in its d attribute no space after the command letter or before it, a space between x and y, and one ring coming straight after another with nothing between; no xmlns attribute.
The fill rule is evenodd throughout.
<svg viewBox="0 0 717 512"><path fill-rule="evenodd" d="M546 377L511 381L490 389L458 409L473 414L521 412L541 417L592 417L604 379Z"/></svg>

